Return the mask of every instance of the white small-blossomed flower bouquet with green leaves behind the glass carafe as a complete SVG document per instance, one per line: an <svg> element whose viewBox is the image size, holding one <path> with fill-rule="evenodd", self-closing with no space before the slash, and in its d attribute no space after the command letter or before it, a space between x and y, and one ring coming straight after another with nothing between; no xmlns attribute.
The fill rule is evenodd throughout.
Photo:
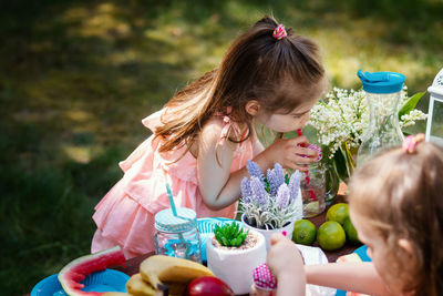
<svg viewBox="0 0 443 296"><path fill-rule="evenodd" d="M406 86L401 92L399 123L404 129L425 120L426 114L415 109L425 92L408 96ZM387 112L389 110L387 109ZM369 108L363 90L333 88L326 100L319 101L311 110L308 124L317 130L322 145L324 161L332 161L341 180L347 181L356 167L354 155L369 125Z"/></svg>

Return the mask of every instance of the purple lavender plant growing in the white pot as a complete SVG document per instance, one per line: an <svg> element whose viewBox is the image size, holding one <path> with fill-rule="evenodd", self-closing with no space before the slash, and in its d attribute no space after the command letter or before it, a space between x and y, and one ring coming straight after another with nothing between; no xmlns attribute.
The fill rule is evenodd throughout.
<svg viewBox="0 0 443 296"><path fill-rule="evenodd" d="M262 229L281 228L303 216L299 171L285 174L279 163L266 176L257 163L246 165L250 177L241 181L240 205L250 226Z"/></svg>

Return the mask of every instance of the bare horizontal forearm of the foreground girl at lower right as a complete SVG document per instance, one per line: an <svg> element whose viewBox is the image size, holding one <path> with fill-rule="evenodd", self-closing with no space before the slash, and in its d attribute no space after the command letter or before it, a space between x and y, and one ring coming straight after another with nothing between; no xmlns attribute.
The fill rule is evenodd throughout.
<svg viewBox="0 0 443 296"><path fill-rule="evenodd" d="M308 284L370 295L390 295L370 262L307 265L305 273Z"/></svg>

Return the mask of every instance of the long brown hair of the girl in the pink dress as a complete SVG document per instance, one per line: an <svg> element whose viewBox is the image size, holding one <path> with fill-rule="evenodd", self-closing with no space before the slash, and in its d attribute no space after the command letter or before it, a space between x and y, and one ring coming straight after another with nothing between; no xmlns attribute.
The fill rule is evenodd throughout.
<svg viewBox="0 0 443 296"><path fill-rule="evenodd" d="M229 115L250 131L253 119L245 111L249 100L259 101L268 112L290 112L313 95L312 89L324 75L317 44L291 29L277 40L272 37L277 25L271 17L259 20L234 41L218 69L175 94L166 104L163 125L155 131L163 139L161 152L183 144L189 149L200 127L216 113ZM300 88L298 95L287 95L282 90L282 81L288 79ZM228 106L233 111L226 114Z"/></svg>

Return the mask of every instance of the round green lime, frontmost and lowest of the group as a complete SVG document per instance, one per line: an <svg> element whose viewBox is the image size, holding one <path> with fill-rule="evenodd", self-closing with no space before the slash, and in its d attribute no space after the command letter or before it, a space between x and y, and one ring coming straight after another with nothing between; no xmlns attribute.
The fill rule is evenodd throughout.
<svg viewBox="0 0 443 296"><path fill-rule="evenodd" d="M342 247L346 243L346 234L340 223L327 221L317 232L317 242L326 251L334 251Z"/></svg>

